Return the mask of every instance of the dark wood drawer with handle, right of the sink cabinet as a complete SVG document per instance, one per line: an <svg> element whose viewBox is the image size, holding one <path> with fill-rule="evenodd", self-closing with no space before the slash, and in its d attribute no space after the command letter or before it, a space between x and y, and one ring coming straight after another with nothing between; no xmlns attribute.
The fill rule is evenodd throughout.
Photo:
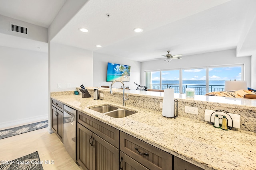
<svg viewBox="0 0 256 170"><path fill-rule="evenodd" d="M152 170L172 170L172 154L120 131L120 150Z"/></svg>

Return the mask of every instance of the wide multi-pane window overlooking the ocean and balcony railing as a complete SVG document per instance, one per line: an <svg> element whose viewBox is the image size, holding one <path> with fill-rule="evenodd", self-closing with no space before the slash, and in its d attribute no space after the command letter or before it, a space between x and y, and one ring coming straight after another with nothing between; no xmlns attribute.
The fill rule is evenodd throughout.
<svg viewBox="0 0 256 170"><path fill-rule="evenodd" d="M225 80L234 79L244 80L244 64L145 72L149 89L174 88L175 93L185 93L186 88L194 88L197 95L223 91Z"/></svg>

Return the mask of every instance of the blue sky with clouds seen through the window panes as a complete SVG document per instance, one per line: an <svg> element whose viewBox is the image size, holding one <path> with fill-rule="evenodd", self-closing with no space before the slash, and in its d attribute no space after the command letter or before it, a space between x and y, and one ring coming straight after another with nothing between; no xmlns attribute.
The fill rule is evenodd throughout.
<svg viewBox="0 0 256 170"><path fill-rule="evenodd" d="M182 70L183 80L206 80L206 68ZM179 80L179 70L162 71L162 80ZM209 68L209 80L241 80L241 66ZM152 72L160 80L160 71Z"/></svg>

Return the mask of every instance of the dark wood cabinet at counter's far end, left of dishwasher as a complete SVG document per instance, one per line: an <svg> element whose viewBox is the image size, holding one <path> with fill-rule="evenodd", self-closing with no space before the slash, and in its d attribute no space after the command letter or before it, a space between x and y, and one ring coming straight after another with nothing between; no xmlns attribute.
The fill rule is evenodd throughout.
<svg viewBox="0 0 256 170"><path fill-rule="evenodd" d="M52 100L52 130L63 143L63 104L58 102L57 106L53 104ZM62 108L62 111L57 108Z"/></svg>

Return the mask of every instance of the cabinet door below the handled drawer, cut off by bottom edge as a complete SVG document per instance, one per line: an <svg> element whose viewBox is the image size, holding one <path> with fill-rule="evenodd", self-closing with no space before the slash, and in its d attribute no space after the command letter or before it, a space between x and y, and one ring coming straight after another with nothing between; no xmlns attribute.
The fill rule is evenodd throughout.
<svg viewBox="0 0 256 170"><path fill-rule="evenodd" d="M149 170L130 156L120 151L120 170Z"/></svg>

